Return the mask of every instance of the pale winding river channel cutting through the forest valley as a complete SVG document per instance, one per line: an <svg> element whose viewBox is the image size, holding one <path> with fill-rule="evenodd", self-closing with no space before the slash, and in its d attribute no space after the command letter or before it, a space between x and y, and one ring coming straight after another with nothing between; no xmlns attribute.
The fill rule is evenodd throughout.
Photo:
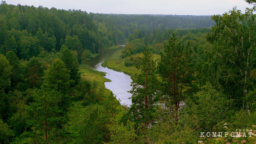
<svg viewBox="0 0 256 144"><path fill-rule="evenodd" d="M131 77L125 73L114 71L109 68L104 68L101 66L101 63L104 62L107 58L109 58L115 51L123 50L123 46L120 46L119 48L115 50L105 50L102 53L100 53L95 58L92 58L91 60L86 62L86 65L91 66L93 69L96 69L98 71L103 71L106 73L106 78L110 79L111 82L105 82L105 87L109 90L111 90L114 95L116 95L116 99L121 100L121 104L126 104L128 106L131 105L131 99L128 99L131 97L131 94L127 91L131 90Z"/></svg>

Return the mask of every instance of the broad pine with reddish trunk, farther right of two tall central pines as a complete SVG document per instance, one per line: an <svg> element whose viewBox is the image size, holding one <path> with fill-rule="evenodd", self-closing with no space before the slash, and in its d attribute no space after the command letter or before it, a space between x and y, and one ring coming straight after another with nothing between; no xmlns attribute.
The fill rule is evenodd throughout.
<svg viewBox="0 0 256 144"><path fill-rule="evenodd" d="M158 73L162 79L159 89L163 94L163 104L170 110L169 114L176 124L179 121L180 106L187 97L186 92L191 89L193 67L190 64L190 54L189 42L184 48L173 34L169 44L164 45L164 53L158 63Z"/></svg>

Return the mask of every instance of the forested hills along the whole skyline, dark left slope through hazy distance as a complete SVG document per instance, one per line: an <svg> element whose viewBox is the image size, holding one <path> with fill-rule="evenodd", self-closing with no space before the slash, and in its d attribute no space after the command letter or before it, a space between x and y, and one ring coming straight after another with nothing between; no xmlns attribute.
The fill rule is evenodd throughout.
<svg viewBox="0 0 256 144"><path fill-rule="evenodd" d="M211 27L211 16L93 14L43 6L0 5L0 53L13 51L30 59L42 51L76 51L78 61L119 44L139 29L144 37L153 30Z"/></svg>

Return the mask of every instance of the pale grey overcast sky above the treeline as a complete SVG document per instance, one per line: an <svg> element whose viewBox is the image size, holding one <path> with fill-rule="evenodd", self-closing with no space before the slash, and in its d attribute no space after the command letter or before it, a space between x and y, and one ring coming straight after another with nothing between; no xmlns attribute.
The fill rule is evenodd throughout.
<svg viewBox="0 0 256 144"><path fill-rule="evenodd" d="M104 14L214 15L237 7L252 7L244 0L5 0L7 4L57 9L81 9Z"/></svg>

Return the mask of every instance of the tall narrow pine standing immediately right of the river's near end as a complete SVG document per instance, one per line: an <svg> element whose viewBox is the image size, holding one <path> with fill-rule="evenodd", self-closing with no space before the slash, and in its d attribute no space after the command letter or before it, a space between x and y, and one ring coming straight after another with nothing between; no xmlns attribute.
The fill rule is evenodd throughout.
<svg viewBox="0 0 256 144"><path fill-rule="evenodd" d="M131 119L134 119L137 123L143 123L146 127L152 123L153 108L157 101L156 63L152 60L147 45L144 47L143 58L141 59L141 65L137 66L141 73L136 76L131 84L133 88L129 91L133 95L131 96L132 105L128 114L130 114Z"/></svg>

